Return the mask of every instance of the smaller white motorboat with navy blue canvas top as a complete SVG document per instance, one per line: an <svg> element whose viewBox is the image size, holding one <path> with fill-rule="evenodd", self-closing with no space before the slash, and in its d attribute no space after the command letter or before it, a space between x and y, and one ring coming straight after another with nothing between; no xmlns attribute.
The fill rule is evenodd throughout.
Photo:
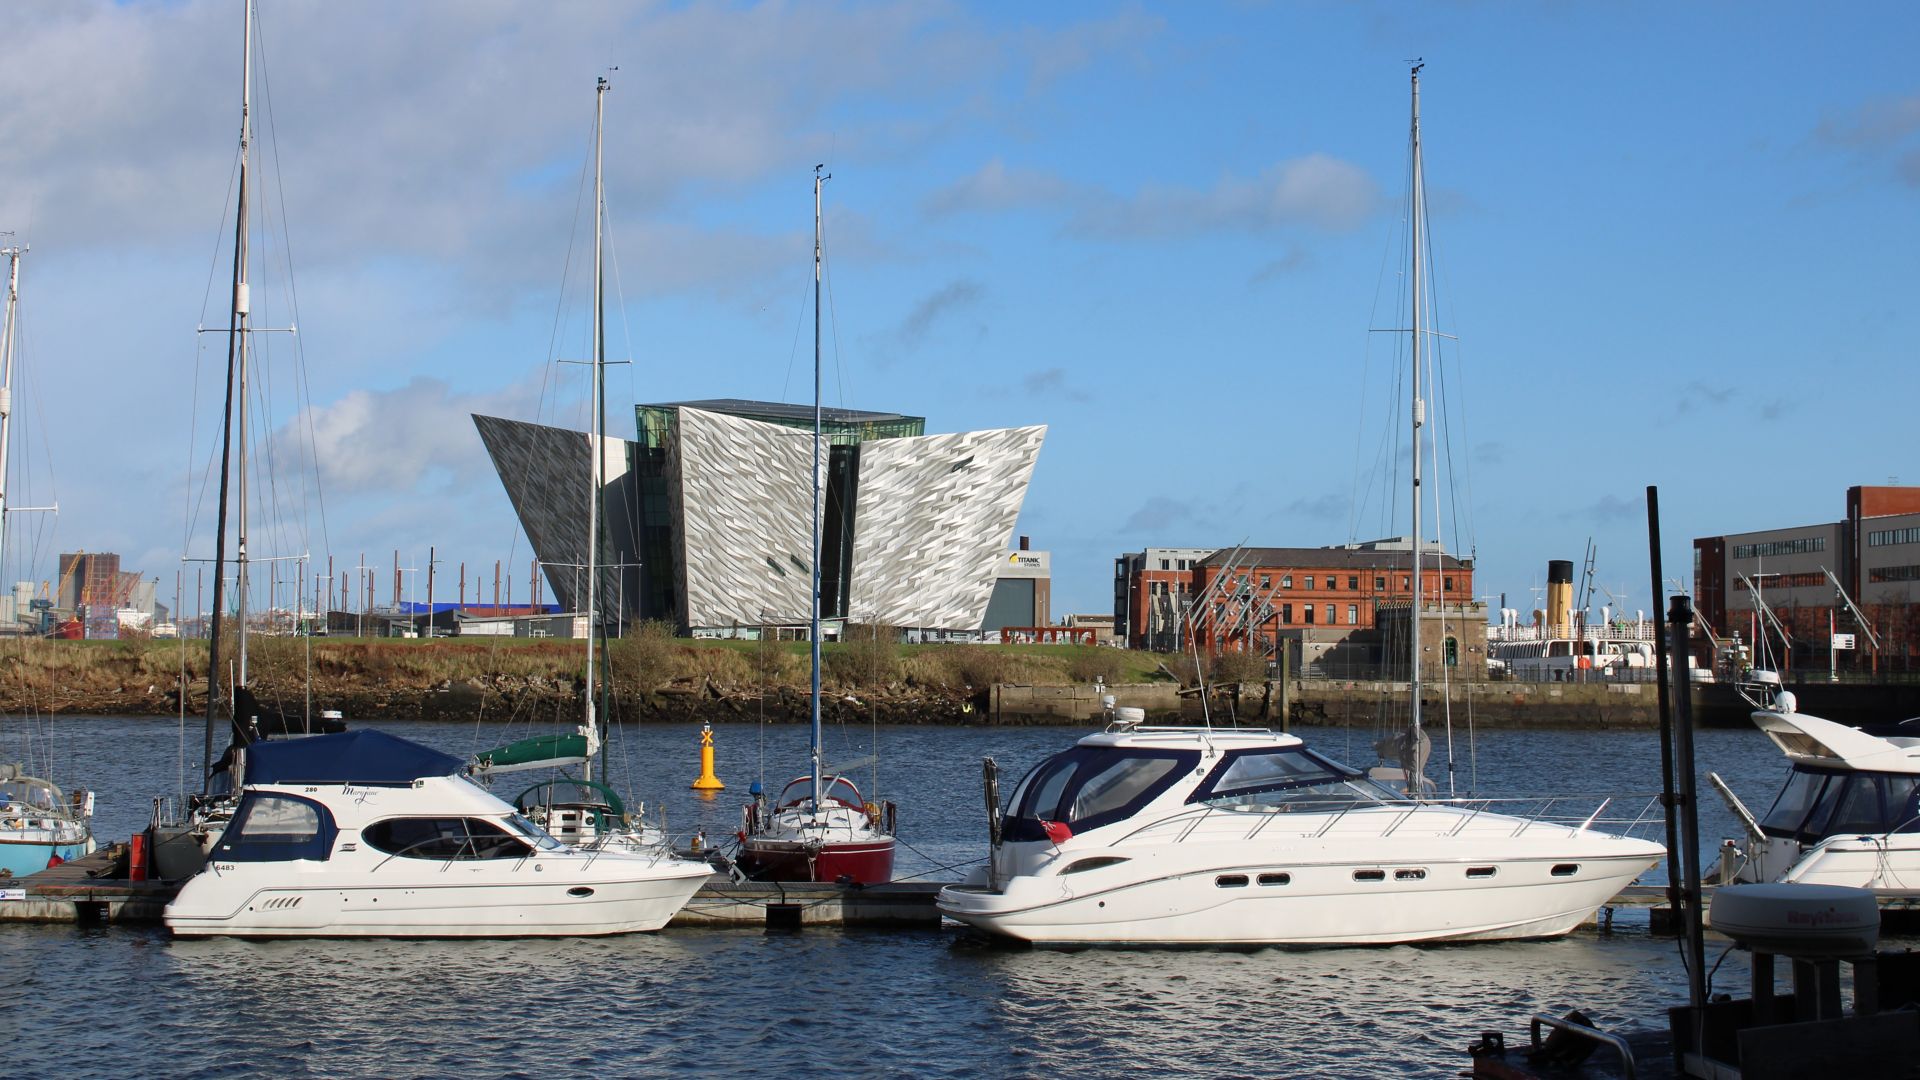
<svg viewBox="0 0 1920 1080"><path fill-rule="evenodd" d="M252 748L205 869L167 905L188 938L511 938L659 930L712 872L664 851L568 847L374 730Z"/></svg>

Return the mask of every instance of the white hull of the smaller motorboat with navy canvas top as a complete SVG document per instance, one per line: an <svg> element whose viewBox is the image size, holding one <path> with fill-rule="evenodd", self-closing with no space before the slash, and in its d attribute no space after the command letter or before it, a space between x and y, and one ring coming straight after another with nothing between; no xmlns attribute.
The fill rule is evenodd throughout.
<svg viewBox="0 0 1920 1080"><path fill-rule="evenodd" d="M612 863L612 857L597 863ZM288 867L271 878L244 867L202 872L167 905L180 938L582 938L659 930L710 876L680 865L651 876L553 872L520 867L522 880L447 880L463 872L390 874L355 884L300 884ZM492 867L488 869L492 871ZM538 874L538 878L536 878ZM244 878L257 880L244 880ZM323 876L323 874L311 874ZM288 880L296 878L296 880ZM436 880L438 878L438 880Z"/></svg>

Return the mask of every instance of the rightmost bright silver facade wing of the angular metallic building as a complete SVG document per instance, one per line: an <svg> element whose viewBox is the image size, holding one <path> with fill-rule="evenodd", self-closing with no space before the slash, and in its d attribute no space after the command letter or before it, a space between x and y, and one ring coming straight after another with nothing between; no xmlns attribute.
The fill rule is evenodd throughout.
<svg viewBox="0 0 1920 1080"><path fill-rule="evenodd" d="M979 628L1046 425L860 448L847 617Z"/></svg>

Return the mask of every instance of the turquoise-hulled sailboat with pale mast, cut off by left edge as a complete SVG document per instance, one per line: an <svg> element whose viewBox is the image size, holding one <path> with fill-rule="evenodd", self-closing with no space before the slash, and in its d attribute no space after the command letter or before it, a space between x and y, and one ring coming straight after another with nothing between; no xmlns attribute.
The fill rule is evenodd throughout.
<svg viewBox="0 0 1920 1080"><path fill-rule="evenodd" d="M6 465L13 421L13 350L19 340L19 244L8 259L6 323L0 325L0 542L6 540ZM0 763L0 878L25 876L94 849L94 796L31 776L19 761Z"/></svg>

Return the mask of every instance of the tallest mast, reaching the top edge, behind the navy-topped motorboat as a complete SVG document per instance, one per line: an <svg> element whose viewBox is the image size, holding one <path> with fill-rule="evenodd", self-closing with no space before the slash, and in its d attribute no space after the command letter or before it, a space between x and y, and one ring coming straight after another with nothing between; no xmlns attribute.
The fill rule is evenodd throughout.
<svg viewBox="0 0 1920 1080"><path fill-rule="evenodd" d="M248 331L248 246L246 246L246 165L248 144L253 138L252 85L253 85L253 0L242 6L242 60L240 60L240 202L234 213L234 290L232 311L227 319L227 409L221 413L221 498L213 528L213 625L207 634L207 730L202 755L202 790L213 780L213 717L219 711L221 686L221 626L227 607L227 484L234 450L234 429L240 434L240 507L238 507L238 575L234 588L240 594L240 678L246 682L246 331ZM234 423L234 398L240 398L238 425Z"/></svg>

